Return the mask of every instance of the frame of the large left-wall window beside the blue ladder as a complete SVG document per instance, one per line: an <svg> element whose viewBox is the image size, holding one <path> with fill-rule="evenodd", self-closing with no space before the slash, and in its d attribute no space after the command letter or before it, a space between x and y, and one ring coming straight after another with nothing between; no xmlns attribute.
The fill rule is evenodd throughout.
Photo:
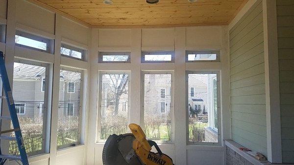
<svg viewBox="0 0 294 165"><path fill-rule="evenodd" d="M50 65L46 64L46 63L41 63L41 62L35 62L35 61L30 61L30 60L25 60L25 59L18 59L18 58L14 58L14 62L15 63L22 63L22 64L27 64L27 65L35 65L35 66L40 66L40 67L45 67L46 68L46 72L45 72L45 78L46 78L46 91L44 94L44 105L45 107L47 107L47 105L51 102L51 98L49 97L50 93L49 93L49 76L50 75ZM42 149L39 151L35 151L35 152L30 152L27 153L28 156L32 156L32 155L38 155L38 154L43 154L46 153L46 151L49 149L49 145L47 145L47 143L49 143L49 130L50 130L50 125L49 125L49 120L50 117L48 116L47 113L43 114L43 142L42 142Z"/></svg>

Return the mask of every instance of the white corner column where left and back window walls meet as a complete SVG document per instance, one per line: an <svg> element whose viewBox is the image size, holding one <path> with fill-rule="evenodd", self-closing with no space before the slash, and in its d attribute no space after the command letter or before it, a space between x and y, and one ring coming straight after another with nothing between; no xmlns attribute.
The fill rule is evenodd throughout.
<svg viewBox="0 0 294 165"><path fill-rule="evenodd" d="M97 137L97 98L98 98L98 28L91 29L91 43L90 43L90 57L89 63L91 63L91 78L90 78L90 110L89 110L89 122L88 122L88 153L87 153L87 165L94 165L94 153L95 153L95 143Z"/></svg>

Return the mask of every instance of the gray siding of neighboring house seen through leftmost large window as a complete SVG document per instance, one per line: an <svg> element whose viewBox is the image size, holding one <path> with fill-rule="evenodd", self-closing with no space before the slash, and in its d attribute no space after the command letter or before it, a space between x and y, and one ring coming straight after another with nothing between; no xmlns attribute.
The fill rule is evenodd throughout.
<svg viewBox="0 0 294 165"><path fill-rule="evenodd" d="M35 88L36 81L32 80L14 80L13 81L13 99L15 104L25 104L25 115L19 115L19 118L33 118L35 113Z"/></svg>

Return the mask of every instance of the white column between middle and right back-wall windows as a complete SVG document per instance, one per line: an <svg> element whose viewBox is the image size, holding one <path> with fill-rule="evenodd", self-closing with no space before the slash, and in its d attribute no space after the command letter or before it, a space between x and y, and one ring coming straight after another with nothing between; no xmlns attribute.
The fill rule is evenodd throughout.
<svg viewBox="0 0 294 165"><path fill-rule="evenodd" d="M186 112L186 28L175 28L174 58L174 135L175 165L187 165L187 112Z"/></svg>

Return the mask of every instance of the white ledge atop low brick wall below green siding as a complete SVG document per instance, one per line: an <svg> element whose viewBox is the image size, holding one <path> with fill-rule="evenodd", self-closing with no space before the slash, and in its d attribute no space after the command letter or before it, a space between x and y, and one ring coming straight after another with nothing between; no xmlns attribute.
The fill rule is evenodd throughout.
<svg viewBox="0 0 294 165"><path fill-rule="evenodd" d="M239 148L240 147L244 148L244 146L240 145L239 143L237 143L235 141L226 140L225 145L227 147L231 148L232 150L234 150L235 152L237 152L239 155L244 157L247 161L249 161L253 165L274 165L268 161L266 163L262 163L262 162L258 161L257 159L255 159L253 156L247 154L245 151L241 151Z"/></svg>

